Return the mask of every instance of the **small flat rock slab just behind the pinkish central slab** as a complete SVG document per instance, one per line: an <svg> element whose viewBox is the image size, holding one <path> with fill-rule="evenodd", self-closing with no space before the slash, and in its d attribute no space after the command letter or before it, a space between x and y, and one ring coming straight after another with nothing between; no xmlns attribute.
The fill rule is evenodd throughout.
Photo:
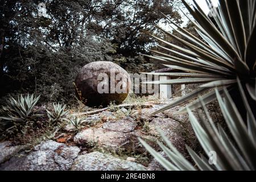
<svg viewBox="0 0 256 182"><path fill-rule="evenodd" d="M103 125L103 129L112 130L112 131L121 131L121 132L130 132L134 131L137 126L137 122L133 119L127 117L119 121L106 122Z"/></svg>

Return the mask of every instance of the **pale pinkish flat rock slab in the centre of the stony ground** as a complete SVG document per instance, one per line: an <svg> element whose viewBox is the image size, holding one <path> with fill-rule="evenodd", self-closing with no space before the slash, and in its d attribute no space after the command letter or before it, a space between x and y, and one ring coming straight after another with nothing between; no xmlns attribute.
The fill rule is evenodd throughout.
<svg viewBox="0 0 256 182"><path fill-rule="evenodd" d="M111 131L102 128L90 128L76 134L74 142L80 145L97 144L101 147L126 148L130 144L130 134L119 131Z"/></svg>

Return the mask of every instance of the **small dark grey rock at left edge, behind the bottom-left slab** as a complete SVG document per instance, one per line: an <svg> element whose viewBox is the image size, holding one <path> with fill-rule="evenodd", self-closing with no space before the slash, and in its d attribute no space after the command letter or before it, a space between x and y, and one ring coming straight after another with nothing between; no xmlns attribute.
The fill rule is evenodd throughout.
<svg viewBox="0 0 256 182"><path fill-rule="evenodd" d="M15 154L17 154L20 150L22 150L24 146L13 146L10 141L5 141L0 143L0 164L6 162Z"/></svg>

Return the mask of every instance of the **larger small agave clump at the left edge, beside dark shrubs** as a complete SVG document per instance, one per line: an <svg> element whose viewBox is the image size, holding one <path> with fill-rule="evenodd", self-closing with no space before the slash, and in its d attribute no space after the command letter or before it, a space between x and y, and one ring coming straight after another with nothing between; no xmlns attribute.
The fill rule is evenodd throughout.
<svg viewBox="0 0 256 182"><path fill-rule="evenodd" d="M34 110L39 98L34 97L34 94L27 94L26 97L21 94L17 100L13 97L6 100L6 106L0 109L0 131L7 134L23 132L28 122L40 116Z"/></svg>

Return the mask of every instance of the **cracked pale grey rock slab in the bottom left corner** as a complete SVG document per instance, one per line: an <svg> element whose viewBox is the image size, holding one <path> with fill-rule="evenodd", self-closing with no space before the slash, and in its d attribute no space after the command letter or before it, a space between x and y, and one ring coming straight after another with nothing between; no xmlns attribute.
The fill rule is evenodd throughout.
<svg viewBox="0 0 256 182"><path fill-rule="evenodd" d="M53 140L42 142L28 155L24 152L0 166L7 171L64 171L79 155L80 148L67 146Z"/></svg>

